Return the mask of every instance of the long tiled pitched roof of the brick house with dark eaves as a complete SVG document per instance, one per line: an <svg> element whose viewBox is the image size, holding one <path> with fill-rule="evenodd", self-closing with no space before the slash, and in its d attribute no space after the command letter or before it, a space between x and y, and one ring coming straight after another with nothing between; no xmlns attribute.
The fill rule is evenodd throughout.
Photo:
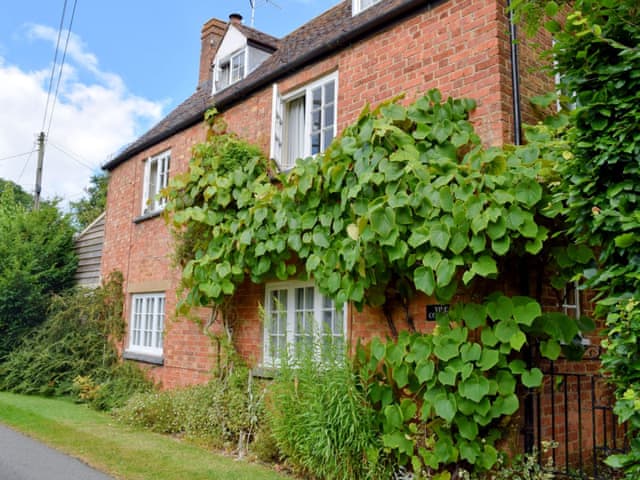
<svg viewBox="0 0 640 480"><path fill-rule="evenodd" d="M438 0L383 0L352 16L352 1L343 0L280 40L240 25L239 29L248 38L251 34L254 41L267 46L269 46L267 42L272 42L271 45L275 45L277 49L243 80L216 93L215 96L211 95L210 81L200 85L191 97L147 133L125 147L113 159L107 161L103 168L112 170L141 151L201 122L204 113L214 104L218 110L224 111L290 72L323 56L333 54L418 9L430 8L436 1Z"/></svg>

